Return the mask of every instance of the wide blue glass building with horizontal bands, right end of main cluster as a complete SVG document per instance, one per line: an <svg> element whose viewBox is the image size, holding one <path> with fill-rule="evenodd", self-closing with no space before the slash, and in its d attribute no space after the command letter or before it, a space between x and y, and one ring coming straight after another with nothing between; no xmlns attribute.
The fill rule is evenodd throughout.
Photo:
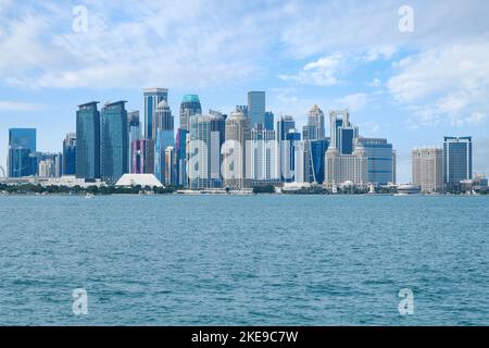
<svg viewBox="0 0 489 348"><path fill-rule="evenodd" d="M368 158L368 183L387 185L394 183L392 144L387 139L359 138Z"/></svg>

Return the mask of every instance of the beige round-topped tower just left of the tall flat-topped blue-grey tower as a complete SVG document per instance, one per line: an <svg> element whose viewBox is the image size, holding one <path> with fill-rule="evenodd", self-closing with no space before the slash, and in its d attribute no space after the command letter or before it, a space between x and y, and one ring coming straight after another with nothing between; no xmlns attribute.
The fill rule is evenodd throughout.
<svg viewBox="0 0 489 348"><path fill-rule="evenodd" d="M233 112L226 120L226 141L223 149L224 185L242 189L246 181L246 144L250 140L250 120L242 112Z"/></svg>

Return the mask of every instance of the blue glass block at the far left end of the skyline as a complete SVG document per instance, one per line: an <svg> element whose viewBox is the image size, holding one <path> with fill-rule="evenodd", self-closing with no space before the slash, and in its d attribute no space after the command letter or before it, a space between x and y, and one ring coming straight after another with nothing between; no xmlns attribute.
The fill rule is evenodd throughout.
<svg viewBox="0 0 489 348"><path fill-rule="evenodd" d="M36 153L35 128L9 129L9 177L36 175L37 163L33 165L32 156Z"/></svg>

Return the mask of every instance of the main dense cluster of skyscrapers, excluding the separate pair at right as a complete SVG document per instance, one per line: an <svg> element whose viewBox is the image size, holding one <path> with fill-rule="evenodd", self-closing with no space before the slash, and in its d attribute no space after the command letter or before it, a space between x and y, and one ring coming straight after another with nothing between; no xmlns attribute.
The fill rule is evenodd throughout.
<svg viewBox="0 0 489 348"><path fill-rule="evenodd" d="M139 112L127 112L125 101L108 102L100 111L97 101L78 105L76 134L66 136L63 153L55 156L36 152L35 129L11 129L9 176L76 175L115 183L126 173L150 173L165 185L190 189L396 183L392 145L360 137L347 110L329 113L326 137L325 114L317 105L299 132L289 115L274 127L264 91L250 91L248 104L230 115L203 114L199 97L187 95L175 130L168 90L147 88L143 99L143 127Z"/></svg>

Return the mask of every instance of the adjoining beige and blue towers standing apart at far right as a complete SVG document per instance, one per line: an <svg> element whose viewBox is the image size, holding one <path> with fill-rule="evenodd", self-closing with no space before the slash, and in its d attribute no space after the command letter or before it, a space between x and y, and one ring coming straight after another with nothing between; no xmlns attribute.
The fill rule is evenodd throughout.
<svg viewBox="0 0 489 348"><path fill-rule="evenodd" d="M473 179L472 137L444 137L443 147L412 152L413 185L425 192L454 190Z"/></svg>

